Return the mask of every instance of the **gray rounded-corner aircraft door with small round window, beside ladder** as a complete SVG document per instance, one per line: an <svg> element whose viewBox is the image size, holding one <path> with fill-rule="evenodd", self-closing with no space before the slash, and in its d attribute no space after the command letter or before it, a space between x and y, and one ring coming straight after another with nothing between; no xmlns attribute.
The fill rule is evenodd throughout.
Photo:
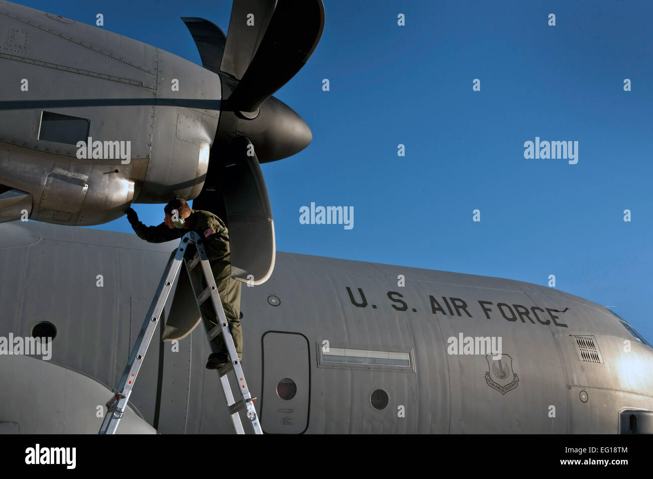
<svg viewBox="0 0 653 479"><path fill-rule="evenodd" d="M263 335L261 426L268 434L301 434L308 427L310 352L300 333Z"/></svg>

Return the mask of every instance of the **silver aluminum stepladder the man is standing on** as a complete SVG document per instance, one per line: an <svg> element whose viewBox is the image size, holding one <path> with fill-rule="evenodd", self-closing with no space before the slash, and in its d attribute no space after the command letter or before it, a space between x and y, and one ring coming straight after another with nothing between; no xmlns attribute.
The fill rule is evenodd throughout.
<svg viewBox="0 0 653 479"><path fill-rule="evenodd" d="M188 247L195 245L197 253L193 258L187 258ZM192 251L192 249L191 249ZM200 306L204 301L209 297L216 313L220 324L208 330L207 334L209 337L210 345L213 352L217 352L217 346L215 342L212 341L217 335L222 334L223 339L225 340L225 345L227 346L227 351L229 352L229 357L231 362L227 363L225 366L218 369L218 374L220 377L220 382L222 385L223 392L225 393L225 399L227 400L227 407L229 408L229 414L231 414L231 422L234 426L236 434L244 434L242 422L240 422L240 415L238 411L241 409L247 409L247 418L251 422L252 428L255 434L263 434L261 429L261 423L259 422L259 416L256 413L254 408L255 397L252 397L249 394L247 389L247 383L245 381L245 375L242 371L240 361L238 360L238 354L236 354L236 347L234 346L234 340L231 337L229 332L229 326L227 324L227 317L225 317L225 311L222 307L220 301L220 296L217 292L217 286L215 285L215 279L213 277L213 272L211 266L208 262L206 252L204 251L204 243L199 234L194 231L188 232L183 235L182 241L179 244L179 247L174 255L168 261L168 265L163 273L157 292L152 300L148 314L145 317L142 328L140 328L140 333L136 338L136 343L134 348L129 355L129 360L125 366L125 372L123 373L120 382L118 383L118 388L116 388L116 393L109 399L106 403L107 412L104 416L104 421L100 427L99 434L114 434L116 433L116 428L127 409L127 403L129 401L129 396L131 395L132 388L134 387L134 382L136 381L136 376L140 370L140 366L143 363L148 347L150 346L150 341L154 332L156 330L157 324L161 315L163 315L163 309L168 301L168 296L170 295L170 290L174 284L174 280L177 278L180 268L182 266L182 260L185 262L186 270L188 271L189 278L191 280L191 285L193 286L193 294L195 296L195 301L197 302L197 307L201 313ZM198 264L201 268L197 268ZM202 278L206 281L206 288L202 290ZM201 291L201 292L200 292ZM198 292L200 292L198 294ZM206 326L206 320L204 315L202 315L202 322ZM163 325L161 326L163 328ZM227 374L233 371L236 376L236 382L238 383L238 390L240 391L241 399L234 401L234 396L231 390L231 385L229 384L229 379Z"/></svg>

